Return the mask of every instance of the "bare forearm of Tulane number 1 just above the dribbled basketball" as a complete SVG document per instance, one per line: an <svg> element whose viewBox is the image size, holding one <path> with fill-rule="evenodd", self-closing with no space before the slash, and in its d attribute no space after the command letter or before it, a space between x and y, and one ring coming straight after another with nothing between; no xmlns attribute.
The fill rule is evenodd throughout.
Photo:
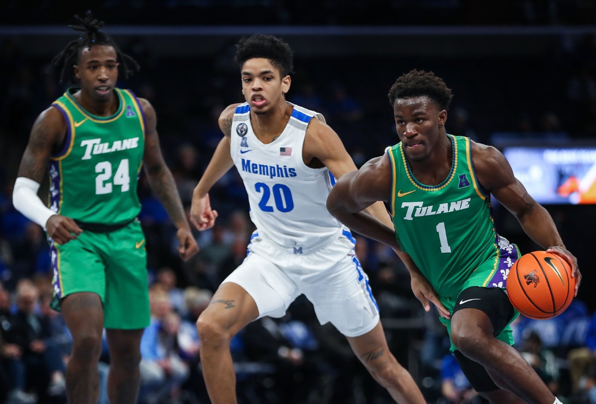
<svg viewBox="0 0 596 404"><path fill-rule="evenodd" d="M522 215L517 215L517 220L522 225L523 231L542 248L555 245L565 248L550 213L538 203L533 204Z"/></svg>

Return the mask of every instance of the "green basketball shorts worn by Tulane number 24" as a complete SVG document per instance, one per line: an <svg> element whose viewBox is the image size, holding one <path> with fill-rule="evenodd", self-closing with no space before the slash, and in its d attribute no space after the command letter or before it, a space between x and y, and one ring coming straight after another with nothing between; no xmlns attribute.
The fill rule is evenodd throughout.
<svg viewBox="0 0 596 404"><path fill-rule="evenodd" d="M100 296L104 327L134 330L149 325L147 251L141 223L133 220L111 232L83 231L58 245L49 240L54 268L52 308L69 294Z"/></svg>

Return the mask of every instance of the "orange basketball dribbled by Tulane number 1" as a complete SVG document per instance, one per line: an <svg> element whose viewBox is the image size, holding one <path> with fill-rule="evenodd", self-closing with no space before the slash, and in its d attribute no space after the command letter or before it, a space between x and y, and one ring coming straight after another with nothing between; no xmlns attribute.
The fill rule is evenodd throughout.
<svg viewBox="0 0 596 404"><path fill-rule="evenodd" d="M573 300L576 279L560 256L534 251L518 259L507 277L507 294L524 316L547 319L560 315Z"/></svg>

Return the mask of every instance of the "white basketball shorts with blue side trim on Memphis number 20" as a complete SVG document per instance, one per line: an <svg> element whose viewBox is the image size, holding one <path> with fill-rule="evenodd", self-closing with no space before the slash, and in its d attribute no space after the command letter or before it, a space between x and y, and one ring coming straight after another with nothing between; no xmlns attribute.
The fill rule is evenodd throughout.
<svg viewBox="0 0 596 404"><path fill-rule="evenodd" d="M346 337L371 331L379 321L368 276L354 253L349 231L314 251L285 248L253 236L244 262L222 283L234 282L250 294L263 316L283 317L305 294L321 324L331 322Z"/></svg>

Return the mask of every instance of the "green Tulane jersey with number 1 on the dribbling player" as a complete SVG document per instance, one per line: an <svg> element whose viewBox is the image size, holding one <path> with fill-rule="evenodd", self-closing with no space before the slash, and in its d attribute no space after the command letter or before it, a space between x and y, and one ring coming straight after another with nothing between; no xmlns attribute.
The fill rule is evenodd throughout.
<svg viewBox="0 0 596 404"><path fill-rule="evenodd" d="M499 239L488 192L480 188L470 139L449 136L451 172L439 185L414 178L399 143L387 150L392 166L391 215L402 250L412 257L439 296L456 296L487 262L499 265Z"/></svg>

